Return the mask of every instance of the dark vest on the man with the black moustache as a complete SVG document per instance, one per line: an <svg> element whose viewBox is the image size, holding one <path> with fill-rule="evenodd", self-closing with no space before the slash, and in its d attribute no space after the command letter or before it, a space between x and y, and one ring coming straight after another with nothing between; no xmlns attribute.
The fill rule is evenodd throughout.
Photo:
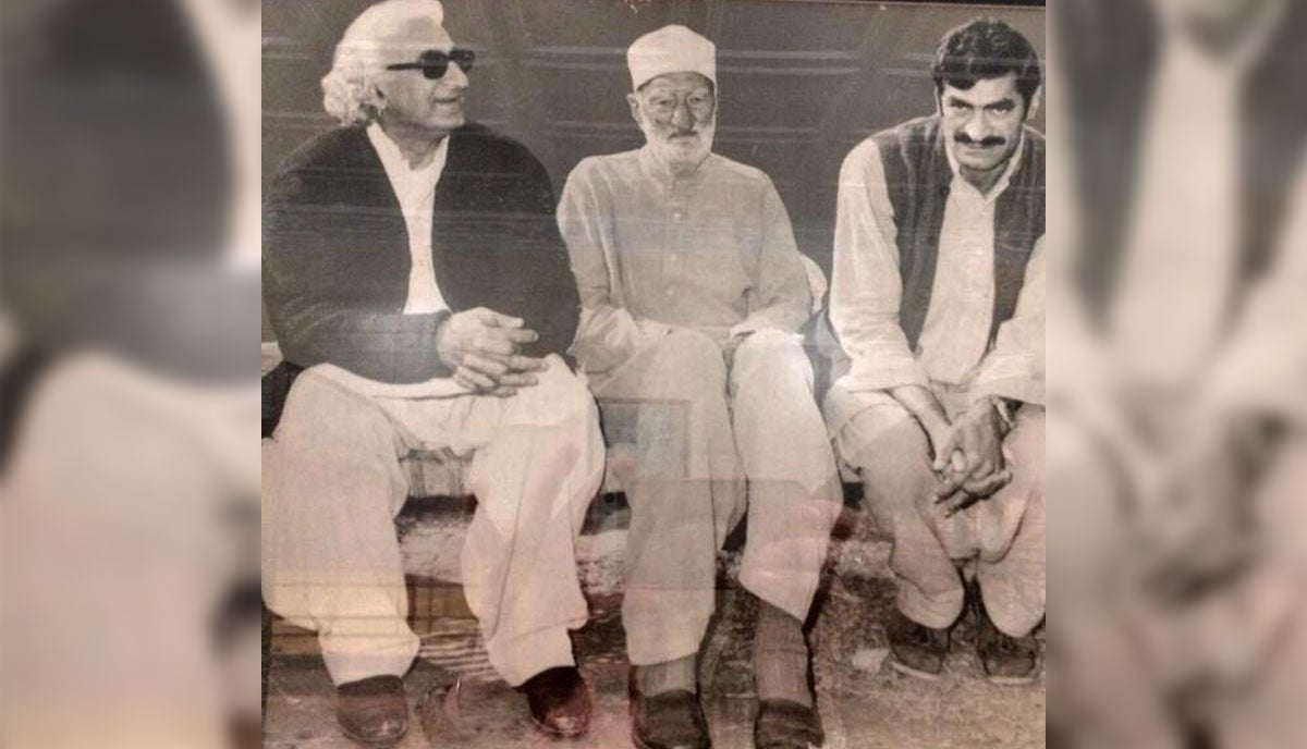
<svg viewBox="0 0 1307 749"><path fill-rule="evenodd" d="M944 150L938 116L903 123L877 133L873 140L885 166L885 186L898 229L899 273L903 280L899 324L908 345L916 349L931 308L940 230L953 170ZM995 203L993 224L991 345L999 325L1017 310L1026 261L1035 241L1044 234L1044 137L1034 129L1026 128L1021 163Z"/></svg>

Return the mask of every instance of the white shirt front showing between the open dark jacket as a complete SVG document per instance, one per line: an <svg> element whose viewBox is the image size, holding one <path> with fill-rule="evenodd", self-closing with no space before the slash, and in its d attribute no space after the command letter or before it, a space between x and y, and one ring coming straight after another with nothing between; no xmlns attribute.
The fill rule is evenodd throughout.
<svg viewBox="0 0 1307 749"><path fill-rule="evenodd" d="M400 146L386 135L382 125L367 125L367 139L372 141L376 156L382 158L386 176L400 201L404 213L404 226L409 237L409 289L404 302L405 315L425 315L448 310L435 282L435 267L431 260L431 212L435 208L435 186L440 182L444 163L450 157L450 139L442 139L435 146L435 154L425 166L413 169L400 152Z"/></svg>

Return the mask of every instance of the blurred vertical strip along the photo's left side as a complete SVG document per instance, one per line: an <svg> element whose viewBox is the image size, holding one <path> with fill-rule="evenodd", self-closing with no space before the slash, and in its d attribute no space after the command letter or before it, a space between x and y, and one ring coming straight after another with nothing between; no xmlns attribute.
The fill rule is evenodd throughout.
<svg viewBox="0 0 1307 749"><path fill-rule="evenodd" d="M259 7L0 8L0 744L259 745Z"/></svg>

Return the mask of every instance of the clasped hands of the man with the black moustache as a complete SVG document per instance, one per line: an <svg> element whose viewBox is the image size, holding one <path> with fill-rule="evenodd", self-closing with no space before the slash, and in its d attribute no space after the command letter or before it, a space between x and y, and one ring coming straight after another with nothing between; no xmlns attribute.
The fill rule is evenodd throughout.
<svg viewBox="0 0 1307 749"><path fill-rule="evenodd" d="M1012 480L1002 454L1002 420L988 400L962 414L938 439L936 502L953 515L1002 489Z"/></svg>

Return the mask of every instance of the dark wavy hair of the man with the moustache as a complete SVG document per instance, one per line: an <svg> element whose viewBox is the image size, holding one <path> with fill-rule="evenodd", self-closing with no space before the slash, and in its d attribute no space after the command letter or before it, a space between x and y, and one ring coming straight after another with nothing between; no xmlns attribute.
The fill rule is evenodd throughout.
<svg viewBox="0 0 1307 749"><path fill-rule="evenodd" d="M980 78L1017 73L1017 92L1030 112L1030 102L1043 80L1039 55L1019 31L996 18L976 18L950 30L940 41L931 65L935 90L948 84L967 90Z"/></svg>

